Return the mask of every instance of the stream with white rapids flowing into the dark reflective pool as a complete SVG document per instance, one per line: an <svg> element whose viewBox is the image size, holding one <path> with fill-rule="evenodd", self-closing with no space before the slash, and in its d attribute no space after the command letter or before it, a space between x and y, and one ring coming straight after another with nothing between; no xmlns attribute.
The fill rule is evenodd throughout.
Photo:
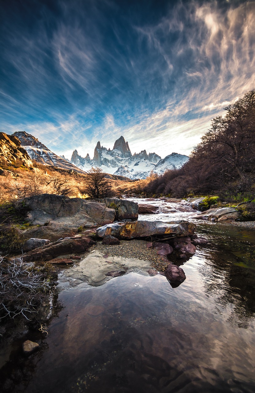
<svg viewBox="0 0 255 393"><path fill-rule="evenodd" d="M160 206L139 219L192 220L209 240L179 263L186 280L172 288L162 275L130 273L97 287L61 283L64 309L38 352L25 358L13 344L2 392L255 391L254 231L193 220L182 204L129 200Z"/></svg>

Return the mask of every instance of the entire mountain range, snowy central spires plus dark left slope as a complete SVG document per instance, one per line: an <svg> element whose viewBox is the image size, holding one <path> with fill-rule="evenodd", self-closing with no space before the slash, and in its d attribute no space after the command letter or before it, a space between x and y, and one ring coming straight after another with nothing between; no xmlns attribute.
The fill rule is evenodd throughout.
<svg viewBox="0 0 255 393"><path fill-rule="evenodd" d="M41 143L33 135L24 131L13 134L20 140L20 145L28 152L31 159L45 164L74 170L80 173L86 172L91 167L101 167L105 173L116 174L134 179L145 179L151 171L163 174L167 169L179 169L189 159L188 156L172 153L161 159L156 153L147 154L146 150L132 155L128 142L121 136L114 143L112 150L101 146L100 141L94 150L94 157L89 154L82 157L77 150L73 151L71 160L64 156L57 156Z"/></svg>

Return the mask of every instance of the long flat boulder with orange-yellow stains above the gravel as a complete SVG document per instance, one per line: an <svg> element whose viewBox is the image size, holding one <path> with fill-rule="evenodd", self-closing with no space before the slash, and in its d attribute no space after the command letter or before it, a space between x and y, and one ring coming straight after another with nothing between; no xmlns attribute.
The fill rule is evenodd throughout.
<svg viewBox="0 0 255 393"><path fill-rule="evenodd" d="M135 239L153 235L193 235L196 226L192 222L168 224L163 221L135 221L108 224L97 228L97 235L104 237L112 235L119 239Z"/></svg>

